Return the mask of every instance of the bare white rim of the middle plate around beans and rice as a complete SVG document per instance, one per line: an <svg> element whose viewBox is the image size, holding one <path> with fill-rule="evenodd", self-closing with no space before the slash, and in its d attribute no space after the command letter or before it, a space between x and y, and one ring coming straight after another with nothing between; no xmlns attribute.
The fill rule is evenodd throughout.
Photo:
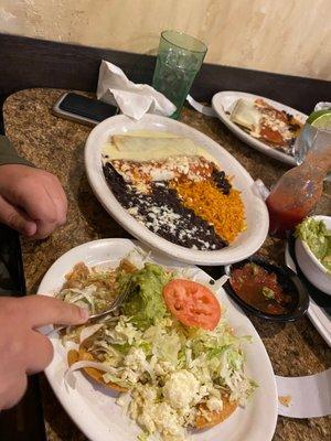
<svg viewBox="0 0 331 441"><path fill-rule="evenodd" d="M172 244L138 223L117 201L103 172L102 148L115 133L132 130L168 131L192 139L203 147L221 164L226 174L234 176L233 185L242 192L245 205L247 229L239 234L228 247L217 251L200 251ZM247 171L223 147L211 138L174 121L157 115L145 115L135 121L124 115L108 118L95 127L86 141L85 166L89 184L106 211L132 236L149 247L188 263L226 265L252 256L265 241L269 216L265 203L254 192L254 182Z"/></svg>

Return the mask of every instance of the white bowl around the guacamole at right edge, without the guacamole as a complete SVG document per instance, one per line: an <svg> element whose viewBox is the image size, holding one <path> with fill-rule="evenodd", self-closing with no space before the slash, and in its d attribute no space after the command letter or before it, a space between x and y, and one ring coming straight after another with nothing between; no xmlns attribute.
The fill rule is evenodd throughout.
<svg viewBox="0 0 331 441"><path fill-rule="evenodd" d="M317 220L324 220L327 228L331 228L331 216L312 216ZM303 275L319 290L331 295L331 275L327 268L310 250L306 241L300 238L296 239L296 257Z"/></svg>

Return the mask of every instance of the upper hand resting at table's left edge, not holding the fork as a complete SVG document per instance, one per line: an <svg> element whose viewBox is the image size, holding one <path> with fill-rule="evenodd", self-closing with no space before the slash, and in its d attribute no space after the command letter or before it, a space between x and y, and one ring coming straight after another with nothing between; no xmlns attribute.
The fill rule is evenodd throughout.
<svg viewBox="0 0 331 441"><path fill-rule="evenodd" d="M56 176L29 165L0 165L0 223L43 239L65 223L66 211Z"/></svg>

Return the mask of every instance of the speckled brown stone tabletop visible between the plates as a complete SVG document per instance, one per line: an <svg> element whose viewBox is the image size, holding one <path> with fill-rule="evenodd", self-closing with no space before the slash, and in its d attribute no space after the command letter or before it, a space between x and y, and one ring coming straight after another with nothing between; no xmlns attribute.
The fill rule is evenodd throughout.
<svg viewBox="0 0 331 441"><path fill-rule="evenodd" d="M21 90L11 95L3 107L6 132L15 149L36 166L56 174L68 197L68 217L64 227L46 240L22 240L26 287L32 293L50 266L68 249L103 237L129 237L104 211L88 185L83 151L90 128L57 118L50 111L62 93L57 89ZM224 146L254 179L260 178L268 186L287 170L280 162L241 142L216 118L184 109L181 120ZM317 212L330 213L330 208L329 183L325 184ZM282 263L284 251L282 240L267 238L259 252ZM264 341L276 374L303 376L331 366L331 351L307 318L288 324L269 323L256 318L252 318L252 321ZM49 440L86 440L43 377L42 395ZM329 439L330 417L309 420L279 417L274 437L274 441Z"/></svg>

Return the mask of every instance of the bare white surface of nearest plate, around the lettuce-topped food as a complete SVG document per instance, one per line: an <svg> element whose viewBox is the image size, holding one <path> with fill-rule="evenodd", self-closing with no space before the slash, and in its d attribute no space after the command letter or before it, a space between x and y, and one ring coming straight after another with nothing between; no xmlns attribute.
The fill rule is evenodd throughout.
<svg viewBox="0 0 331 441"><path fill-rule="evenodd" d="M88 266L108 265L115 267L137 244L128 239L102 239L73 248L53 263L44 276L38 293L53 295L64 283L65 275L75 263ZM151 260L167 267L180 267L175 260L151 255ZM183 265L181 265L183 267ZM211 278L194 268L197 280ZM238 408L224 423L203 432L194 432L192 441L270 441L277 421L277 390L273 367L254 326L226 297L218 292L224 315L237 335L252 335L253 343L245 345L246 372L258 383L252 400L245 409ZM51 327L44 329L44 332ZM92 441L137 441L141 430L122 413L116 405L116 396L102 386L89 381L81 372L75 373L75 388L64 381L67 369L66 352L57 336L53 336L54 358L45 369L46 377L73 421ZM261 418L263 416L263 418ZM151 438L152 440L152 438Z"/></svg>

